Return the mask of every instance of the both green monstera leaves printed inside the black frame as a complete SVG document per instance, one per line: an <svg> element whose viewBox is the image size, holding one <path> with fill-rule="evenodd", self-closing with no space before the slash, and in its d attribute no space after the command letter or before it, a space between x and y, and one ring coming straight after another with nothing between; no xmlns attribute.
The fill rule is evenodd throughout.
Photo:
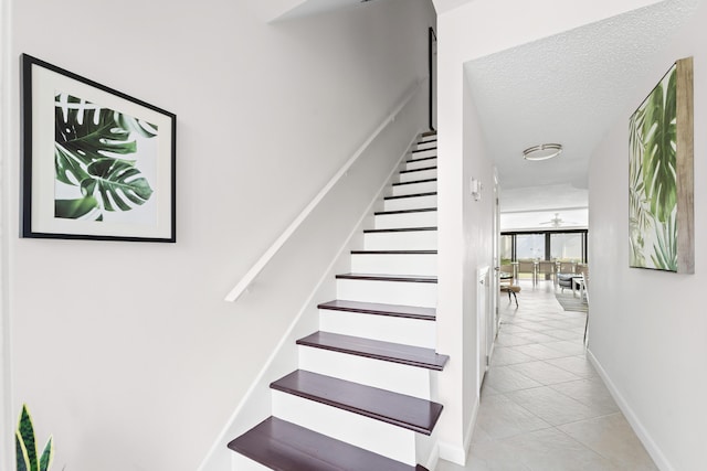
<svg viewBox="0 0 707 471"><path fill-rule="evenodd" d="M55 96L55 217L103 221L106 212L131 211L150 199L134 157L136 137L156 137L157 126L68 94Z"/></svg>

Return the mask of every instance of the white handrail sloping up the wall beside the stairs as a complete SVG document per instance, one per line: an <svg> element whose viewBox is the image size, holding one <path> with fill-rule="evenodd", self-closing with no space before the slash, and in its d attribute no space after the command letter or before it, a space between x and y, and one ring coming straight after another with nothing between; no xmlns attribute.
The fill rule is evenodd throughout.
<svg viewBox="0 0 707 471"><path fill-rule="evenodd" d="M243 292L247 290L249 286L251 286L253 280L257 277L257 275L260 275L260 272L263 271L263 268L265 268L265 266L275 256L275 254L277 254L277 251L285 245L285 242L287 242L287 239L295 233L295 231L297 231L297 227L299 227L299 225L307 218L307 216L314 211L314 208L317 207L317 205L321 202L321 200L324 200L324 196L326 196L329 190L331 190L334 185L338 183L341 176L344 176L346 172L348 172L351 165L358 160L359 157L363 154L366 149L371 144L371 142L373 142L373 140L378 137L378 135L380 135L382 130L386 129L386 127L390 122L395 120L395 117L398 116L398 114L402 110L402 108L405 105L408 105L408 103L412 99L414 94L418 92L418 88L420 87L420 84L422 82L423 82L422 79L418 79L415 82L415 84L411 87L410 92L405 94L405 96L400 101L400 104L395 107L395 109L390 115L388 115L388 117L380 124L380 126L378 126L378 128L373 131L373 133L368 139L366 139L366 142L363 142L361 147L359 147L358 150L354 153L354 156L351 156L351 158L346 161L344 167L341 167L339 171L336 172L334 176L331 176L331 180L329 180L329 182L326 185L324 185L321 190L319 190L319 193L317 193L317 195L309 202L309 204L307 204L307 206L305 206L305 208L302 210L302 213L299 213L299 215L289 224L289 226L287 226L285 232L283 232L282 235L277 237L277 239L273 243L273 245L267 250L265 250L265 253L261 256L261 258L258 258L255 265L253 265L253 267L251 267L251 269L247 270L247 272L241 279L241 281L239 281L239 283L226 295L225 297L226 301L230 301L230 302L236 301L241 297L241 295L243 295Z"/></svg>

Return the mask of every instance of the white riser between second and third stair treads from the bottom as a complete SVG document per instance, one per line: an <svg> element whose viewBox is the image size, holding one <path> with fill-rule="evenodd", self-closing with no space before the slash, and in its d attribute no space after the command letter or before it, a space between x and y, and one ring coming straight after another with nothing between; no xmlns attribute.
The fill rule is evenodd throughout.
<svg viewBox="0 0 707 471"><path fill-rule="evenodd" d="M299 345L299 370L430 400L430 371Z"/></svg>

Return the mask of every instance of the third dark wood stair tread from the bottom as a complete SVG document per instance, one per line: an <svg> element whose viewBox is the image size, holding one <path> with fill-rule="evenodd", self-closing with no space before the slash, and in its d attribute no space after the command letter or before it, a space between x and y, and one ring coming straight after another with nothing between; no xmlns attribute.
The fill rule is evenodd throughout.
<svg viewBox="0 0 707 471"><path fill-rule="evenodd" d="M383 362L400 363L421 368L442 371L450 358L432 349L382 342L331 332L315 332L297 341L297 345L329 350L349 355L365 356Z"/></svg>

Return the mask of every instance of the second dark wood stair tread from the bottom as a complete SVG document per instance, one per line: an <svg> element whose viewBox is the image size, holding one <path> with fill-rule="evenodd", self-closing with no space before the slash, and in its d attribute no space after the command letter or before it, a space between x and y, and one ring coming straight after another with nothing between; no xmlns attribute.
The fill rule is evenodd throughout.
<svg viewBox="0 0 707 471"><path fill-rule="evenodd" d="M442 405L404 394L297 370L271 384L283 393L431 435Z"/></svg>

